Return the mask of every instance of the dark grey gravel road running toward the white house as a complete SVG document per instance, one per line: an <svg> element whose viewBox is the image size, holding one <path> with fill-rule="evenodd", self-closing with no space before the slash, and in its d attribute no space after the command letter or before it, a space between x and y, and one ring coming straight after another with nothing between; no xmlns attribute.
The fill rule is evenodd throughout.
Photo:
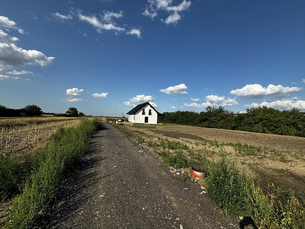
<svg viewBox="0 0 305 229"><path fill-rule="evenodd" d="M73 176L63 181L42 228L240 228L218 213L199 184L174 176L101 122ZM202 194L200 194L202 193Z"/></svg>

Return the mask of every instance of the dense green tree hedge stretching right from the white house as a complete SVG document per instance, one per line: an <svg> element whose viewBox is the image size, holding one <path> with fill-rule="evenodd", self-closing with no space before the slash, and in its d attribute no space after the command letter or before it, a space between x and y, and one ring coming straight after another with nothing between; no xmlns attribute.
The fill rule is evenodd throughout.
<svg viewBox="0 0 305 229"><path fill-rule="evenodd" d="M297 108L279 111L263 106L234 114L224 107L209 106L200 113L175 111L163 115L163 123L305 137L305 115Z"/></svg>

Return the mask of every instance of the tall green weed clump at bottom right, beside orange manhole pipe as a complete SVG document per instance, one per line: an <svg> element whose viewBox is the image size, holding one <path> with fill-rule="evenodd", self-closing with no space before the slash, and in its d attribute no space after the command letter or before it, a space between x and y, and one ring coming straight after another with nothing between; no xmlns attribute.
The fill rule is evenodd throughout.
<svg viewBox="0 0 305 229"><path fill-rule="evenodd" d="M206 190L229 216L251 217L259 229L305 229L305 195L269 184L265 192L222 155L203 162Z"/></svg>

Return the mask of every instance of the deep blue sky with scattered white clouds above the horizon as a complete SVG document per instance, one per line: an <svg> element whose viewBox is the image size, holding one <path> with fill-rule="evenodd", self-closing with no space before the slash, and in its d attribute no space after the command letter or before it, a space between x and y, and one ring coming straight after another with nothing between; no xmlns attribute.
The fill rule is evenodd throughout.
<svg viewBox="0 0 305 229"><path fill-rule="evenodd" d="M0 102L305 110L304 1L0 1Z"/></svg>

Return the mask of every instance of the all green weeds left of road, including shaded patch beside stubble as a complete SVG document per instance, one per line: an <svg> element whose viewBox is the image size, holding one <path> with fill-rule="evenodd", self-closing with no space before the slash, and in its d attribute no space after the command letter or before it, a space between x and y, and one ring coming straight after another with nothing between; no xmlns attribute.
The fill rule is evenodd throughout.
<svg viewBox="0 0 305 229"><path fill-rule="evenodd" d="M84 155L99 120L72 121L77 125L57 128L34 151L1 155L2 198L11 198L4 228L32 228L56 194L59 181Z"/></svg>

